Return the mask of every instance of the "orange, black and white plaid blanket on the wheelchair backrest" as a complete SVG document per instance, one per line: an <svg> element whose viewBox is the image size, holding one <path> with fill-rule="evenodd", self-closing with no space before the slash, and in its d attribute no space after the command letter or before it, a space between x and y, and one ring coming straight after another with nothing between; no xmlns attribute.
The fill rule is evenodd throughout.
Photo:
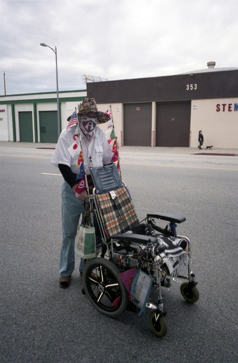
<svg viewBox="0 0 238 363"><path fill-rule="evenodd" d="M110 193L96 195L105 232L108 236L114 233L125 233L139 223L132 200L125 187Z"/></svg>

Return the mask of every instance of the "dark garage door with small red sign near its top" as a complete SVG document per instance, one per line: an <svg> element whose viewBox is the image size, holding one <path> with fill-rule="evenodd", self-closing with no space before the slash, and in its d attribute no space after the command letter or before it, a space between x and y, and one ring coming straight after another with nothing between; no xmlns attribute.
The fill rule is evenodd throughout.
<svg viewBox="0 0 238 363"><path fill-rule="evenodd" d="M152 103L124 103L124 146L151 146Z"/></svg>

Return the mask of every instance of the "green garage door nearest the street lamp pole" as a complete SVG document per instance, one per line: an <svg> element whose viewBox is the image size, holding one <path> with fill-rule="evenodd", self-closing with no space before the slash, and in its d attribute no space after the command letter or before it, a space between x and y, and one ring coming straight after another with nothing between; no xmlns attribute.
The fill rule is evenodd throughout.
<svg viewBox="0 0 238 363"><path fill-rule="evenodd" d="M58 141L57 111L40 111L40 142Z"/></svg>

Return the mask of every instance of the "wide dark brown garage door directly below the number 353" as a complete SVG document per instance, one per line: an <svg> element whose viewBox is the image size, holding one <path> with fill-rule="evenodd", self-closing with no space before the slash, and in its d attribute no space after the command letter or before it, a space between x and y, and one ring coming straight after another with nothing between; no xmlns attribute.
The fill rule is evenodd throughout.
<svg viewBox="0 0 238 363"><path fill-rule="evenodd" d="M189 147L191 101L156 104L156 146Z"/></svg>

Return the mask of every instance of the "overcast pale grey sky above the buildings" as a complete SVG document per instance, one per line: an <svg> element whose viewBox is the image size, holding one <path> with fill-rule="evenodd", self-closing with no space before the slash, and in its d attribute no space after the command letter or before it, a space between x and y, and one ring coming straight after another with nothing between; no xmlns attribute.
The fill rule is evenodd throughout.
<svg viewBox="0 0 238 363"><path fill-rule="evenodd" d="M238 1L0 1L0 95L238 66Z"/></svg>

